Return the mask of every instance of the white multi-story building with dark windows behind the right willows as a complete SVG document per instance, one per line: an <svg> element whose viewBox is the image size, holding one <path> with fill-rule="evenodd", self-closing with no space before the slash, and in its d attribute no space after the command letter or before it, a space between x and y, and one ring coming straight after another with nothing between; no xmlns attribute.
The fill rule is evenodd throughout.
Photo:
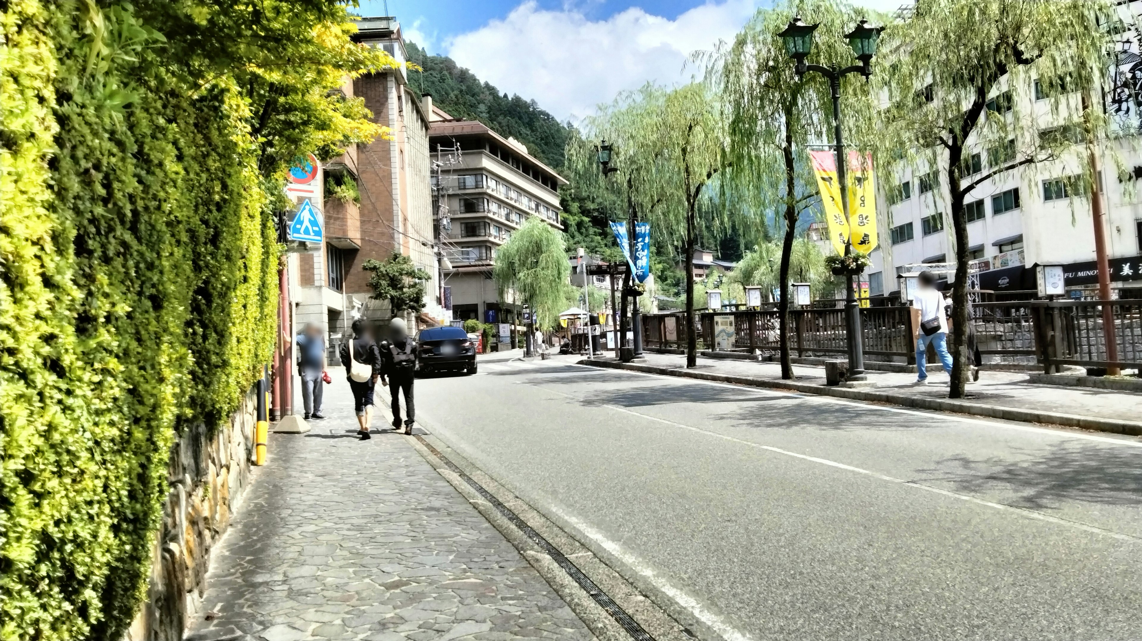
<svg viewBox="0 0 1142 641"><path fill-rule="evenodd" d="M1131 7L1124 5L1119 10L1128 31L1119 38L1120 66L1107 79L1107 107L1120 126L1139 131L1142 130L1139 99L1142 31L1131 17ZM1039 80L1030 78L1026 82L1027 87L1003 87L995 91L984 118L1005 118L1012 109L1031 110L1043 122L1040 131L1057 121L1049 113ZM968 142L971 146L972 138ZM1142 136L1128 136L1111 144L1116 147L1104 145L1099 152L1111 280L1115 287L1142 287L1142 193L1134 193L1134 182L1142 177ZM973 146L965 152L968 175L964 182L1010 161L1007 149ZM1117 177L1115 153L1127 168L1125 181ZM976 265L984 270L980 273L982 289L1035 289L1031 267L1036 264L1064 265L1069 289L1094 287L1097 275L1091 201L1071 198L1069 193L1070 177L1081 174L1087 162L1086 147L1079 145L1060 160L1005 171L972 190L965 203L967 250L973 259L981 259ZM878 175L880 247L872 253L872 266L867 271L871 295L898 293L898 274L904 265L955 262L946 176L943 163Z"/></svg>

